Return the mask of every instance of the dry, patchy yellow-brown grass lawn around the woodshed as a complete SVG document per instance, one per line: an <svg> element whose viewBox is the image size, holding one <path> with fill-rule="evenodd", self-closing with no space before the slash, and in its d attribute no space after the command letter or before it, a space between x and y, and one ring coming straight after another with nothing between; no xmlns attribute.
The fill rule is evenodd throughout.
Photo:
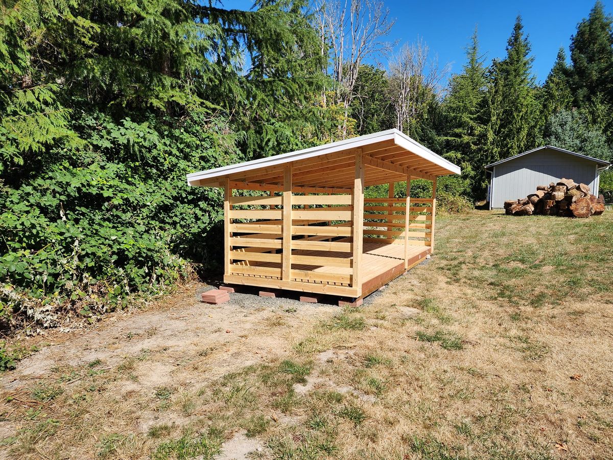
<svg viewBox="0 0 613 460"><path fill-rule="evenodd" d="M613 212L437 224L360 309L191 285L26 340L0 458L613 458Z"/></svg>

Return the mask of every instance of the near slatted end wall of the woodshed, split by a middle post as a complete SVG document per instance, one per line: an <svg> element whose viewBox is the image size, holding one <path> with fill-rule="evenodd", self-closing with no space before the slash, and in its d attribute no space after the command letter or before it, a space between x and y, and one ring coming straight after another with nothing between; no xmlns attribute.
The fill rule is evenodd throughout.
<svg viewBox="0 0 613 460"><path fill-rule="evenodd" d="M351 286L351 195L291 201L291 248L284 248L280 195L230 197L229 274L281 280L283 251L291 250L290 281Z"/></svg>

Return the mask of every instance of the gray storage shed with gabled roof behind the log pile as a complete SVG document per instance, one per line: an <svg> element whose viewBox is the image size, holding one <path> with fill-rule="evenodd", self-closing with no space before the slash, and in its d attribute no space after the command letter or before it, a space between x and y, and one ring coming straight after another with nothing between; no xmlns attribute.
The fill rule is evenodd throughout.
<svg viewBox="0 0 613 460"><path fill-rule="evenodd" d="M544 145L485 166L487 201L490 209L501 208L505 200L524 198L534 193L537 185L549 185L563 177L587 184L598 196L600 172L610 165L602 159Z"/></svg>

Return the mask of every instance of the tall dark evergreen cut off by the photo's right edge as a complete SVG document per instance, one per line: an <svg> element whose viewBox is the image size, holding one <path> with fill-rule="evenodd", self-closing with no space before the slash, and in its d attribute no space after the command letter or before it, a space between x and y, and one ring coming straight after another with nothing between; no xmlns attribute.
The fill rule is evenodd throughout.
<svg viewBox="0 0 613 460"><path fill-rule="evenodd" d="M590 125L613 140L613 18L596 1L587 19L571 37L573 90L576 107L585 111Z"/></svg>

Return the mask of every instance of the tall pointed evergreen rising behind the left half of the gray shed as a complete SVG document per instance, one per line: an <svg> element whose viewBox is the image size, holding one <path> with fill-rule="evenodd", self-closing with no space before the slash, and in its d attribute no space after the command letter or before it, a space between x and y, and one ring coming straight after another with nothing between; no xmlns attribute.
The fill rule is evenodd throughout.
<svg viewBox="0 0 613 460"><path fill-rule="evenodd" d="M485 164L528 150L535 144L537 136L538 102L535 77L531 72L533 58L529 56L530 42L524 36L520 16L517 16L506 51L506 58L493 61L489 74L489 125L485 155L479 169ZM482 191L485 186L483 176Z"/></svg>

